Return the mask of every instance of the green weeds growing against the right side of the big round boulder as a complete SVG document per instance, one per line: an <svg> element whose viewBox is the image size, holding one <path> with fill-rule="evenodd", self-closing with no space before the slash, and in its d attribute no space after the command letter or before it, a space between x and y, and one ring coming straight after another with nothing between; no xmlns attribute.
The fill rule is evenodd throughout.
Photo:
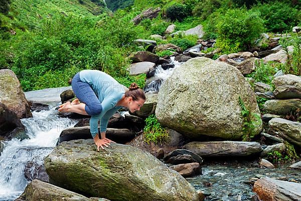
<svg viewBox="0 0 301 201"><path fill-rule="evenodd" d="M242 141L251 141L256 135L255 129L261 124L261 117L258 114L251 113L240 96L238 97L238 104L243 118Z"/></svg>

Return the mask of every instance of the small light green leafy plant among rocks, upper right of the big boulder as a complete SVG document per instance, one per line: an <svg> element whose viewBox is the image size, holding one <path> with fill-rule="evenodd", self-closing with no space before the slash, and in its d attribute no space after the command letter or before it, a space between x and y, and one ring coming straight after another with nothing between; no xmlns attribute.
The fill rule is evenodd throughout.
<svg viewBox="0 0 301 201"><path fill-rule="evenodd" d="M272 64L264 63L262 60L255 61L256 69L248 77L252 77L255 82L263 82L271 85L273 75L278 71L277 67Z"/></svg>

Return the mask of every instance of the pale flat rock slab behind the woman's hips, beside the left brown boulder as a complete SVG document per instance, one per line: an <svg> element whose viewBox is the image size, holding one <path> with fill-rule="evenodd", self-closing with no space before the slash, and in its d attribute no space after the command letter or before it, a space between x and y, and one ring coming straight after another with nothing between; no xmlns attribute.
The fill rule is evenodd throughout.
<svg viewBox="0 0 301 201"><path fill-rule="evenodd" d="M52 103L61 102L60 94L68 89L72 89L71 86L63 86L58 88L45 88L41 90L27 91L25 97L27 100L34 103Z"/></svg>

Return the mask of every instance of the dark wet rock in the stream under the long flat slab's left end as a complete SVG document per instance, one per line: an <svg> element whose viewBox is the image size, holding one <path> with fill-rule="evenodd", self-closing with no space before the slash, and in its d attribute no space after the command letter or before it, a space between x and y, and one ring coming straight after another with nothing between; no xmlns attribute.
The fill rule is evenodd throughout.
<svg viewBox="0 0 301 201"><path fill-rule="evenodd" d="M183 163L203 163L203 159L186 149L176 149L172 152L170 152L164 160L166 163L173 164L173 165L178 165L178 164L183 164Z"/></svg>

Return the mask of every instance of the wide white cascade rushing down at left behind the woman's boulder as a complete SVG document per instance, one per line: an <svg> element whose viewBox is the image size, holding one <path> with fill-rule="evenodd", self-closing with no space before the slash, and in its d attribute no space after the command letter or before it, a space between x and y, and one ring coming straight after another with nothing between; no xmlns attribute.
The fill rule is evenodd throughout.
<svg viewBox="0 0 301 201"><path fill-rule="evenodd" d="M25 189L28 180L24 169L28 162L43 164L56 146L63 129L76 124L76 121L59 118L56 106L49 111L33 112L33 118L22 119L29 139L2 141L4 149L0 156L0 201L14 200Z"/></svg>

